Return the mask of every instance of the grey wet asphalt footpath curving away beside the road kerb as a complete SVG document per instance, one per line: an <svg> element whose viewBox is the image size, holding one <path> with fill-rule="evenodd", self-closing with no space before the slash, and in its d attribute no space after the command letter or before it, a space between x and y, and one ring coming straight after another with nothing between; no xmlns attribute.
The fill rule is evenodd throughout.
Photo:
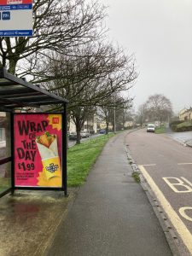
<svg viewBox="0 0 192 256"><path fill-rule="evenodd" d="M147 196L131 177L125 133L103 149L47 255L172 255Z"/></svg>

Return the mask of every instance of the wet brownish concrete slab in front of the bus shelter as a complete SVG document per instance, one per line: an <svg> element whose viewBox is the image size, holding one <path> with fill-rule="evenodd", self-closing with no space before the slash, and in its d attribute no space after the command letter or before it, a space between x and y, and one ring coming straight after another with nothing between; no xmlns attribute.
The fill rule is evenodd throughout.
<svg viewBox="0 0 192 256"><path fill-rule="evenodd" d="M0 199L0 255L42 256L67 215L77 189L17 191Z"/></svg>

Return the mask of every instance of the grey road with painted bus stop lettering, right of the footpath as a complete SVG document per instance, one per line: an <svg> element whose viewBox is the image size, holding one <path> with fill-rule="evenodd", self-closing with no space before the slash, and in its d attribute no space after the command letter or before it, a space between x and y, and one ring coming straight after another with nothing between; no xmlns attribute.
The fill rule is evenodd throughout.
<svg viewBox="0 0 192 256"><path fill-rule="evenodd" d="M131 156L192 255L192 148L163 134L139 130L126 136Z"/></svg>

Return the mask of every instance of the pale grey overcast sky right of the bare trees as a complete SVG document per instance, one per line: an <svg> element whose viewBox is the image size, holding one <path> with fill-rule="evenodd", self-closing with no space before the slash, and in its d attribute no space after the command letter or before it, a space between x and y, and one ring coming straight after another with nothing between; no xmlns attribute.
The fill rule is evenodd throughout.
<svg viewBox="0 0 192 256"><path fill-rule="evenodd" d="M134 53L139 77L134 106L163 94L177 113L192 107L192 0L100 0L109 38Z"/></svg>

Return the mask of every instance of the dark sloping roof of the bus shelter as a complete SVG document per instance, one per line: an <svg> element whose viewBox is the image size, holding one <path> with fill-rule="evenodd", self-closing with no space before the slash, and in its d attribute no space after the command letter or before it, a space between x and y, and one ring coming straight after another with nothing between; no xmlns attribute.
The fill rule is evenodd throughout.
<svg viewBox="0 0 192 256"><path fill-rule="evenodd" d="M26 82L0 68L0 109L23 107L39 108L42 105L66 104L68 101L38 85Z"/></svg>

